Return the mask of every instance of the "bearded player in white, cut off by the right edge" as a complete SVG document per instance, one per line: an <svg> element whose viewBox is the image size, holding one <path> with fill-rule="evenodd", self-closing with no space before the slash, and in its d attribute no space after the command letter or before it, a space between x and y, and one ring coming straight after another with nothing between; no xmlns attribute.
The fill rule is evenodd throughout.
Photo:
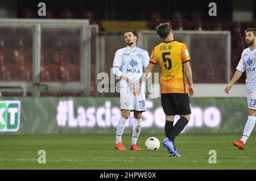
<svg viewBox="0 0 256 181"><path fill-rule="evenodd" d="M243 136L240 141L234 141L233 145L243 150L245 142L253 131L256 121L256 28L245 30L246 48L242 52L241 60L238 63L237 71L224 91L229 94L233 84L238 81L242 73L246 71L246 95L248 102L248 120L245 124Z"/></svg>

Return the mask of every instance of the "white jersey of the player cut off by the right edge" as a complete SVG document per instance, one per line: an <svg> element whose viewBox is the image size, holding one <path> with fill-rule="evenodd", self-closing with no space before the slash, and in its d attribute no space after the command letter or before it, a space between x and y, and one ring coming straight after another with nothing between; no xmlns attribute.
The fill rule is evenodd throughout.
<svg viewBox="0 0 256 181"><path fill-rule="evenodd" d="M242 52L241 59L237 65L237 70L246 70L246 92L256 91L256 49L246 48Z"/></svg>

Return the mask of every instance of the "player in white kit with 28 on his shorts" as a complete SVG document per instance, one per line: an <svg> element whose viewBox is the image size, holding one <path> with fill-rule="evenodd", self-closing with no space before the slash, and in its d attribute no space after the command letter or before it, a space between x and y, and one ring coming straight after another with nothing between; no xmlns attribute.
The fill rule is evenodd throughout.
<svg viewBox="0 0 256 181"><path fill-rule="evenodd" d="M146 111L146 98L144 85L140 92L135 94L134 89L147 67L150 57L148 52L136 47L137 34L127 31L125 34L127 47L118 49L113 62L113 73L121 77L120 82L120 106L122 115L117 124L115 149L126 150L122 144L122 134L131 111L134 111L133 137L131 150L141 150L137 146L137 140L141 132L142 112Z"/></svg>

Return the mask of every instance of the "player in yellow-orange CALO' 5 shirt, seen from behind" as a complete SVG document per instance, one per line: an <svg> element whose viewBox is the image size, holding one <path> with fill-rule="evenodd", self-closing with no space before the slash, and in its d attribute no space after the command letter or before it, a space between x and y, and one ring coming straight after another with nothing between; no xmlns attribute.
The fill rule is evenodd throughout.
<svg viewBox="0 0 256 181"><path fill-rule="evenodd" d="M166 139L163 141L163 145L168 149L171 157L180 157L175 149L174 140L188 124L191 114L189 97L193 96L194 89L190 57L187 46L174 40L169 23L159 24L156 27L156 32L163 42L152 50L150 64L145 69L145 74L135 92L139 90L140 84L146 79L146 75L151 72L154 65L159 64L161 68L161 102L166 114L164 127ZM180 115L180 119L174 125L175 115Z"/></svg>

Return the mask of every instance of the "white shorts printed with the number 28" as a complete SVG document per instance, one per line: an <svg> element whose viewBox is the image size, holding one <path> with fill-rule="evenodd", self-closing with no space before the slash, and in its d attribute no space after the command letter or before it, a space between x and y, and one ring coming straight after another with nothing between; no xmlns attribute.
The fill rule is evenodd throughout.
<svg viewBox="0 0 256 181"><path fill-rule="evenodd" d="M145 92L138 92L134 95L133 92L120 92L120 106L122 110L130 111L146 111Z"/></svg>

